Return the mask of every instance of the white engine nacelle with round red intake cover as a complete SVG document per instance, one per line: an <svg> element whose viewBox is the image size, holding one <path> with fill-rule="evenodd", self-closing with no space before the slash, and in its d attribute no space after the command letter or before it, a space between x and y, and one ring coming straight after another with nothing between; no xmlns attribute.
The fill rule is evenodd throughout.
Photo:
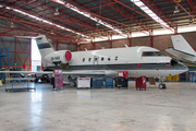
<svg viewBox="0 0 196 131"><path fill-rule="evenodd" d="M69 50L54 51L47 55L45 60L50 63L68 63L72 61L72 52Z"/></svg>

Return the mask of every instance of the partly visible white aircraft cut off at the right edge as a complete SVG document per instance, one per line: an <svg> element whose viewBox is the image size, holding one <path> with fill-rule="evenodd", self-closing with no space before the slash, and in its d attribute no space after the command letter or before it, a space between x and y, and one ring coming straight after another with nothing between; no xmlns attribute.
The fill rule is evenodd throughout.
<svg viewBox="0 0 196 131"><path fill-rule="evenodd" d="M173 48L166 51L175 56L176 60L187 66L189 71L196 71L196 52L182 35L171 36Z"/></svg>

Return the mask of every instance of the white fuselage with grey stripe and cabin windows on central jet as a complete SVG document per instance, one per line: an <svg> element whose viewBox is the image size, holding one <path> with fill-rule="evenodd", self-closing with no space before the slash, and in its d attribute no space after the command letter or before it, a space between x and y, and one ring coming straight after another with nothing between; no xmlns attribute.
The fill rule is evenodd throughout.
<svg viewBox="0 0 196 131"><path fill-rule="evenodd" d="M59 58L64 56L61 52ZM46 58L47 62L52 63L52 58ZM128 71L128 76L168 76L187 71L187 67L181 63L170 66L170 57L150 47L76 51L72 52L65 71L84 72L84 75L85 72L105 72L101 76L118 76L119 71Z"/></svg>

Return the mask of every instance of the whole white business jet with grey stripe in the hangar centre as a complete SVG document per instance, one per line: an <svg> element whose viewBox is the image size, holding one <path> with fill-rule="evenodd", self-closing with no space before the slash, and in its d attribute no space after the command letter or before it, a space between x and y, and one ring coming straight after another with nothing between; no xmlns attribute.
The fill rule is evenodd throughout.
<svg viewBox="0 0 196 131"><path fill-rule="evenodd" d="M45 35L36 37L46 69L63 68L63 74L115 78L119 71L128 76L161 78L187 71L187 67L151 47L126 47L89 51L56 51ZM1 71L0 71L1 72ZM3 72L4 73L4 72ZM7 71L7 73L14 73ZM15 73L42 73L19 71ZM53 72L45 72L53 73ZM162 82L159 86L166 86Z"/></svg>

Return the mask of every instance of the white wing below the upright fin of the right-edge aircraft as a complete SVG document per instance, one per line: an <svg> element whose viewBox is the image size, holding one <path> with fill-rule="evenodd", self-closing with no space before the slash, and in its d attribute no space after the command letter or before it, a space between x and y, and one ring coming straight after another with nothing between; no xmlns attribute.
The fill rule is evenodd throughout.
<svg viewBox="0 0 196 131"><path fill-rule="evenodd" d="M195 57L195 55L193 55L193 53L184 52L184 51L181 51L181 50L177 50L177 49L174 49L174 48L166 49L166 51L173 55L173 56L175 56L176 58Z"/></svg>

